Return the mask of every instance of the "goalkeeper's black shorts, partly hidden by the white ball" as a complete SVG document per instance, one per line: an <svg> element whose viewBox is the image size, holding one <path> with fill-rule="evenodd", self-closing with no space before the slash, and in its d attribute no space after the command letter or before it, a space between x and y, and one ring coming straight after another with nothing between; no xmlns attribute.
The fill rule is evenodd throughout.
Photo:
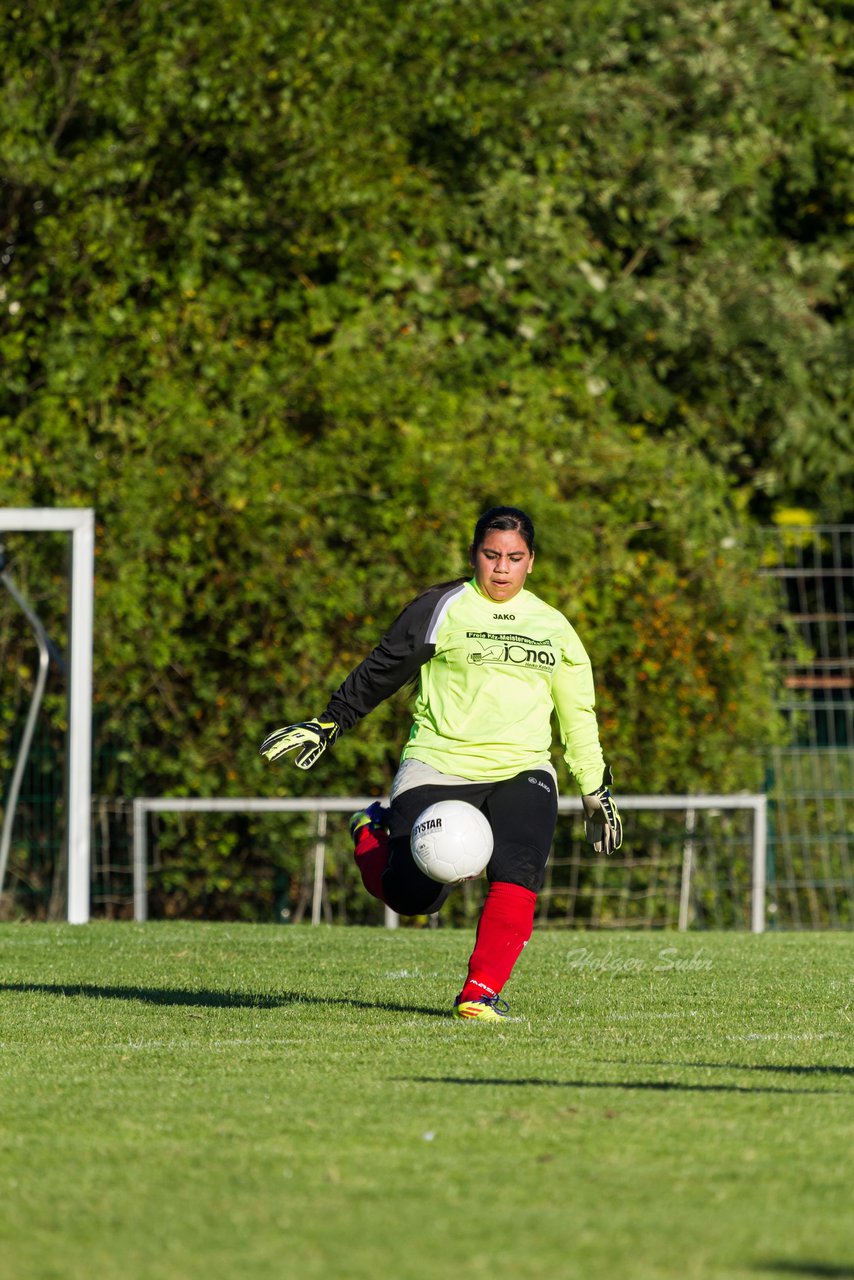
<svg viewBox="0 0 854 1280"><path fill-rule="evenodd" d="M437 884L419 870L410 850L412 827L438 800L467 800L489 819L494 846L487 865L492 884L502 881L538 893L552 849L557 820L557 786L545 769L526 769L503 782L430 785L403 791L392 801L389 859L383 872L383 895L401 915L438 911L453 888Z"/></svg>

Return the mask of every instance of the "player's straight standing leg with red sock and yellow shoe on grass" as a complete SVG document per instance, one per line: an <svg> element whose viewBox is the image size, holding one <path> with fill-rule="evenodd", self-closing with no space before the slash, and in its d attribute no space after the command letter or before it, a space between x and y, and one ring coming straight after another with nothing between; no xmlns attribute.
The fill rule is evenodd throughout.
<svg viewBox="0 0 854 1280"><path fill-rule="evenodd" d="M553 776L530 771L495 783L485 812L495 840L487 868L489 890L455 1014L493 1020L506 1012L498 996L534 928L536 893L557 820Z"/></svg>

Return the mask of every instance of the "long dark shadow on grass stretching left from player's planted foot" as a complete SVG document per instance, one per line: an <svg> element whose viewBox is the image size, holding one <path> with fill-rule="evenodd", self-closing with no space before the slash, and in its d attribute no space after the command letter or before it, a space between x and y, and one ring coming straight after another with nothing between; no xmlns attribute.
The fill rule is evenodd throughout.
<svg viewBox="0 0 854 1280"><path fill-rule="evenodd" d="M423 1014L447 1018L447 1009L425 1005L397 1005L383 1000L357 1000L353 996L311 996L302 991L261 995L239 991L189 991L183 987L102 987L87 982L1 982L4 991L37 996L85 996L88 1000L137 1000L147 1005L184 1005L191 1009L286 1009L288 1005L341 1005L344 1009L382 1009L389 1014Z"/></svg>

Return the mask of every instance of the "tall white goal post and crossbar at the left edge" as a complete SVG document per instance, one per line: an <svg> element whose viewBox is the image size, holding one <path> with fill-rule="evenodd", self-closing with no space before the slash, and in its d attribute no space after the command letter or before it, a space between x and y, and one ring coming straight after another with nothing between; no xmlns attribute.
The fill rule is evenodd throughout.
<svg viewBox="0 0 854 1280"><path fill-rule="evenodd" d="M92 630L95 512L90 507L0 508L0 534L72 535L68 673L68 922L86 924L92 841Z"/></svg>

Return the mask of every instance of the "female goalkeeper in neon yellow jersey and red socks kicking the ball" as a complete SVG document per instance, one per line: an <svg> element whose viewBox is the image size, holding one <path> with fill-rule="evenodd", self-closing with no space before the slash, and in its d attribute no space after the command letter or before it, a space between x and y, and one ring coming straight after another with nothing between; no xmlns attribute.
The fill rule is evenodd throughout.
<svg viewBox="0 0 854 1280"><path fill-rule="evenodd" d="M309 769L335 739L416 677L412 728L391 792L350 829L365 888L402 915L437 911L451 891L415 864L410 832L437 800L467 800L492 826L489 888L457 1018L507 1016L499 1000L531 936L557 818L549 759L557 712L566 763L598 852L622 841L594 714L590 660L557 609L526 590L534 526L516 507L493 507L475 526L474 576L431 586L406 605L316 719L286 724L261 745L269 760L298 750Z"/></svg>

